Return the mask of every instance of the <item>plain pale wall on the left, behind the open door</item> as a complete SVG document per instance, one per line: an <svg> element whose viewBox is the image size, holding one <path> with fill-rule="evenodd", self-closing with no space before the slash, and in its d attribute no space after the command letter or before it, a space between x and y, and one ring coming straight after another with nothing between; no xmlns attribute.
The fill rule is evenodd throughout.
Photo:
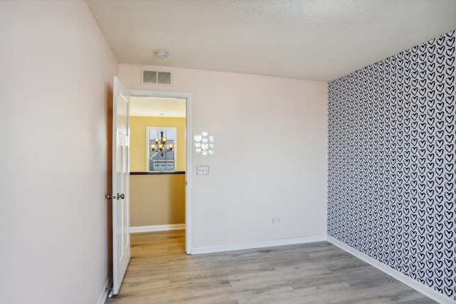
<svg viewBox="0 0 456 304"><path fill-rule="evenodd" d="M0 303L97 303L118 63L83 0L0 1Z"/></svg>

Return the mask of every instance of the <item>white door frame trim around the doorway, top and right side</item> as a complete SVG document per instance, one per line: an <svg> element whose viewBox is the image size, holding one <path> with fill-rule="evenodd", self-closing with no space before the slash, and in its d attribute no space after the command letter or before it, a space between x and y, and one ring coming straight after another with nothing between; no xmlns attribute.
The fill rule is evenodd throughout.
<svg viewBox="0 0 456 304"><path fill-rule="evenodd" d="M192 254L192 93L128 90L130 96L181 98L185 103L185 252Z"/></svg>

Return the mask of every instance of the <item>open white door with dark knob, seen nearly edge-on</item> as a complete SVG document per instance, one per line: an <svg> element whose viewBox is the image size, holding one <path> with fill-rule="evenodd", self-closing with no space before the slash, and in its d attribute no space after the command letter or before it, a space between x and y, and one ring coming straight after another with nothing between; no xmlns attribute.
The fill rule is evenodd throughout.
<svg viewBox="0 0 456 304"><path fill-rule="evenodd" d="M117 77L113 83L113 294L130 261L130 97Z"/></svg>

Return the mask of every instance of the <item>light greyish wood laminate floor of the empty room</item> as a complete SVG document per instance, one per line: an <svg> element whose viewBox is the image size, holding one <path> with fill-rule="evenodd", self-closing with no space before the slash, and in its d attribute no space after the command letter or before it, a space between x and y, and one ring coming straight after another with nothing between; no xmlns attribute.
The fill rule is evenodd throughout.
<svg viewBox="0 0 456 304"><path fill-rule="evenodd" d="M328 242L185 254L185 231L131 236L113 304L435 303Z"/></svg>

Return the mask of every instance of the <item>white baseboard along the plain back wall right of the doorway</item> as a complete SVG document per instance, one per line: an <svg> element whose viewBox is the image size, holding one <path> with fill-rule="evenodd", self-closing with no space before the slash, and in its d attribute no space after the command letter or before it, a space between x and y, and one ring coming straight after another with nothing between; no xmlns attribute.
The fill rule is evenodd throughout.
<svg viewBox="0 0 456 304"><path fill-rule="evenodd" d="M237 243L237 244L232 244L232 245L199 247L199 248L192 248L192 254L214 253L214 252L222 252L222 251L235 251L235 250L265 248L265 247L285 246L285 245L296 245L296 244L300 244L300 243L314 243L314 242L319 242L319 241L326 241L326 236L304 236L301 238L292 238L292 239L279 239L279 240L260 241L260 242L253 242L253 243Z"/></svg>

